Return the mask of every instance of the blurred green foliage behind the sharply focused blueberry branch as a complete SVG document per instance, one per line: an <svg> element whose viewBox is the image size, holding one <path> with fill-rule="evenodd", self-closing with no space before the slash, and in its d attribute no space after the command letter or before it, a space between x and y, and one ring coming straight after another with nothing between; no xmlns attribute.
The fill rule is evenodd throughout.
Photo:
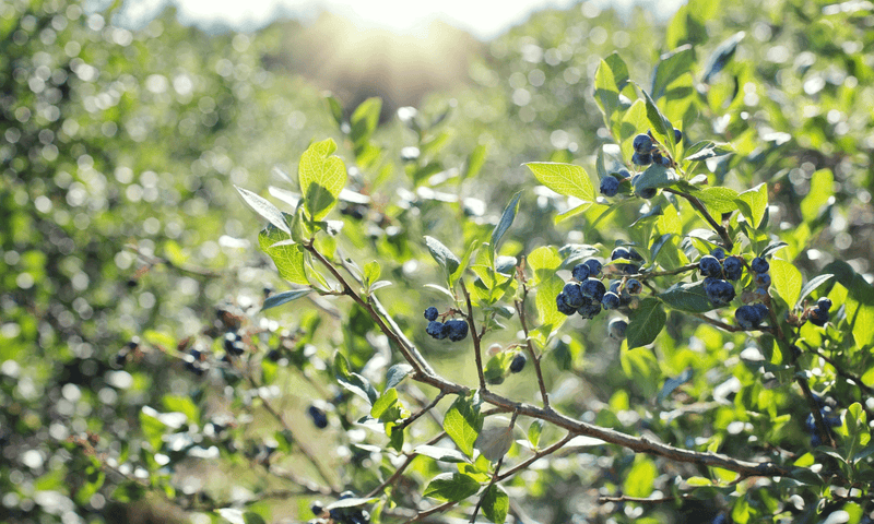
<svg viewBox="0 0 874 524"><path fill-rule="evenodd" d="M293 201L272 168L294 174L311 140L334 138L356 193L331 216L344 222L339 249L359 265L382 264L394 285L380 294L401 327L439 371L472 384L472 357L424 336L421 312L439 296L423 286L439 275L422 236L461 253L528 189L504 254L586 242L604 257L629 240L640 209L623 206L597 228L588 215L554 225L567 199L520 167L554 159L594 171L612 140L594 73L614 50L649 90L660 57L690 46L688 71L669 78L694 96L669 116L688 143L736 147L708 164L710 182L767 182L771 230L808 277L834 260L872 270L870 2L692 1L665 24L643 9L583 2L488 43L435 24L424 43L369 35L365 44L328 15L251 34L204 34L173 10L138 29L113 20L64 0L0 4L3 522L236 522L211 511L232 504L268 522L305 520L318 493L300 478L319 475L302 458L304 442L331 472L324 484L373 488L389 458L365 443L371 436L354 425L361 406L336 388L330 360L341 349L381 382L397 356L365 313L340 301L259 312L288 285L257 249L260 225L232 184ZM604 343L602 325L571 324L545 360L565 413L742 457L751 445L763 454L807 445L790 392L763 388L737 361L743 335L672 315L659 344L673 359L637 362L654 366L647 382ZM222 360L226 333L240 334L240 366ZM861 353L832 357L862 374L872 362ZM815 390L838 406L859 396L830 368L811 366ZM653 396L687 367L694 378L680 398ZM496 390L532 397L527 373ZM744 400L717 402L714 383ZM405 394L427 402L412 385ZM281 406L294 438L261 397ZM314 403L328 414L322 431L306 415ZM412 440L427 429L411 428ZM598 496L670 492L690 466L586 451L506 483L515 511L542 522L710 522L725 510L723 495L654 509L599 504ZM423 458L410 471L421 481L437 466ZM280 488L286 496L264 495ZM408 488L398 500L415 500ZM784 489L751 492L747 513L735 505L732 519L791 516ZM853 515L862 522L861 510ZM393 522L389 508L383 520Z"/></svg>

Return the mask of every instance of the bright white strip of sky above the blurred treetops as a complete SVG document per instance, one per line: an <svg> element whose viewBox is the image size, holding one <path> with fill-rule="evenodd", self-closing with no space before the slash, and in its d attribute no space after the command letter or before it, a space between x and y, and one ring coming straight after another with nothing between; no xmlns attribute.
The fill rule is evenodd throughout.
<svg viewBox="0 0 874 524"><path fill-rule="evenodd" d="M314 19L322 10L345 15L368 26L397 33L415 32L437 19L468 31L481 40L494 38L546 8L568 8L579 0L128 0L130 15L151 17L165 3L179 9L185 24L223 22L238 31L268 24L277 13ZM641 3L670 15L683 0L591 0L600 7L629 8Z"/></svg>

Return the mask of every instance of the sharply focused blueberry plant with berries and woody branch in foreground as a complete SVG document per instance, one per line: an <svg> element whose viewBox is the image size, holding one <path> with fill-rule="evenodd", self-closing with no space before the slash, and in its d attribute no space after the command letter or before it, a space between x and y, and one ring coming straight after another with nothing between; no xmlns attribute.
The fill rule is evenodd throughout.
<svg viewBox="0 0 874 524"><path fill-rule="evenodd" d="M736 191L711 183L710 167L735 147L706 138L693 142L674 127L689 116L672 104L677 95L668 86L676 79L661 72L675 72L682 53L663 57L652 90L628 78L618 55L601 61L594 94L612 143L594 155L600 183L576 164L525 164L538 182L576 203L560 221L595 228L617 209L637 206L627 238L616 238L615 247L501 249L530 205L519 192L491 230L465 236L458 252L447 246L457 242L422 238L421 249L437 264L427 284L434 295L410 305L420 313L409 321L395 319L379 298L378 290L392 284L380 279L381 265L356 260L344 248L353 239L330 218L347 181L332 139L303 153L296 188L290 189L296 190L295 205L286 212L238 188L269 222L259 237L262 249L296 285L268 297L264 308L310 295L346 300L354 309L341 322L347 329L366 323L382 340L382 373L368 378L342 349L328 365L361 401L344 409L366 428L364 449L380 457L379 473L354 493L315 503L312 522L415 522L450 512L470 522L480 514L498 523L509 513L522 519L511 503L518 477L535 463L597 445L606 445L607 457L635 454L618 466L626 477L617 481L622 488L602 496L602 503L646 508L713 500L713 522L779 521L838 509L860 522L874 510L871 377L827 356L871 359L872 288L843 262L805 282L769 219L768 186ZM661 105L652 98L659 92ZM354 131L350 139L364 150ZM581 330L614 341L625 373L642 391L658 392L660 404L636 412L635 424L587 420L556 407L560 384L543 368ZM412 342L414 332L426 333L437 347L472 354L472 362L464 359L471 379L439 371ZM485 341L493 344L486 347ZM231 367L248 366L234 352L226 355ZM353 355L361 358L361 352ZM536 384L535 401L498 392L528 360L533 372L521 377ZM713 366L702 370L696 360ZM825 378L823 361L836 374ZM365 357L362 367L371 362ZM705 376L694 377L693 369ZM681 394L689 382L695 385ZM713 405L699 405L705 398ZM669 405L673 409L659 407ZM309 413L317 427L326 426L323 412ZM701 415L697 439L672 442L674 425ZM720 426L728 432L717 437L713 428ZM517 432L524 438L516 440ZM745 436L747 445L727 445ZM304 450L303 442L290 444ZM322 481L333 479L305 454ZM427 467L408 472L417 457Z"/></svg>

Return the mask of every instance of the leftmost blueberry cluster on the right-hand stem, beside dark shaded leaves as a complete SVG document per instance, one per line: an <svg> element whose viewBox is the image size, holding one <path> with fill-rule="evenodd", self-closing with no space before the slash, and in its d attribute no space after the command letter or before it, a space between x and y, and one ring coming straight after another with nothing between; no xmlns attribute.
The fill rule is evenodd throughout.
<svg viewBox="0 0 874 524"><path fill-rule="evenodd" d="M640 270L640 262L643 258L631 248L616 248L610 255L611 260L623 260L614 264L614 267L625 275L635 275ZM571 270L574 281L565 284L562 293L555 297L558 311L566 315L578 313L583 319L592 319L601 310L618 309L628 306L635 300L635 295L643 290L643 285L637 278L625 277L614 279L610 287L598 278L602 265L594 259L588 259L577 264ZM607 334L612 338L622 340L625 337L625 330L628 322L623 319L613 319L607 324Z"/></svg>

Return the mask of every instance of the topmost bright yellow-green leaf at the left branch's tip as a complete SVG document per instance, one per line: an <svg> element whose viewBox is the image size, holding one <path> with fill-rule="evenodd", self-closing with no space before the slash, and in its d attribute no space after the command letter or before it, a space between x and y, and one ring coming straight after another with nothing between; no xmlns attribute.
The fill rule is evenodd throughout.
<svg viewBox="0 0 874 524"><path fill-rule="evenodd" d="M346 167L340 157L331 155L334 151L336 143L327 139L314 142L300 155L297 175L304 193L304 207L311 222L324 218L346 184Z"/></svg>

